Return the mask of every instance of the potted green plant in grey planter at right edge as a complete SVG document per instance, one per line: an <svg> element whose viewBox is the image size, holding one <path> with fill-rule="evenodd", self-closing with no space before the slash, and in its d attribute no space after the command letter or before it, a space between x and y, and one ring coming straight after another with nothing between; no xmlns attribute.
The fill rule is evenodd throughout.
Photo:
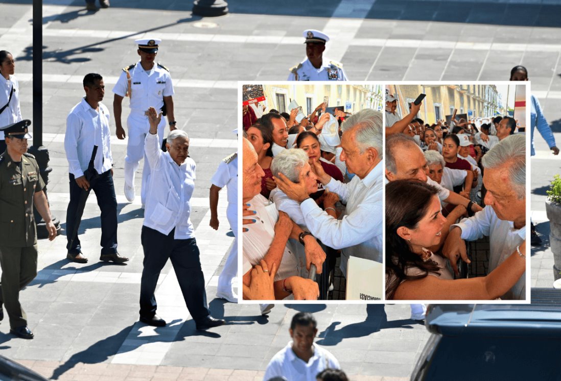
<svg viewBox="0 0 561 381"><path fill-rule="evenodd" d="M545 211L549 219L549 244L553 252L553 278L561 278L561 176L553 176L545 202Z"/></svg>

